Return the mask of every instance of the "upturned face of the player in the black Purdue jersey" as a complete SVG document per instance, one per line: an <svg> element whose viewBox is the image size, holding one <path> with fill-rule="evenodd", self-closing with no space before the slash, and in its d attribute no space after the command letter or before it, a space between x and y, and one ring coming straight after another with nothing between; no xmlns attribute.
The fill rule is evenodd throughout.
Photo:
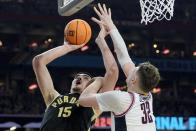
<svg viewBox="0 0 196 131"><path fill-rule="evenodd" d="M71 92L82 93L90 80L91 77L87 74L77 74L72 81Z"/></svg>

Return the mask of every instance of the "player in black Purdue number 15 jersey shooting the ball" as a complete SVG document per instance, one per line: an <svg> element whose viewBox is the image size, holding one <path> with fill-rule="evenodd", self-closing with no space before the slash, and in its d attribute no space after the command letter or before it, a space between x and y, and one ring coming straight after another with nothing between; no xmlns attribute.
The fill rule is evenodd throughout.
<svg viewBox="0 0 196 131"><path fill-rule="evenodd" d="M72 81L69 94L60 95L53 85L53 81L46 67L54 59L66 55L83 45L71 45L67 41L64 45L48 50L33 59L33 69L37 82L47 106L40 131L88 131L100 115L97 107L82 107L78 99L82 91L87 87L99 86L100 92L113 90L118 79L118 67L115 59L105 42L108 34L101 29L95 42L103 55L106 73L102 78L91 78L85 73L79 73ZM95 81L96 79L96 81ZM101 82L98 82L101 80ZM98 83L98 84L97 84Z"/></svg>

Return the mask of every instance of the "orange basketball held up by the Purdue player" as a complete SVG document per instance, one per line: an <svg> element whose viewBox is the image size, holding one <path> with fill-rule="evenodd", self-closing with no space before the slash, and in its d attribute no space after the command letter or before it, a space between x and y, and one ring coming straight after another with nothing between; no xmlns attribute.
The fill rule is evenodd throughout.
<svg viewBox="0 0 196 131"><path fill-rule="evenodd" d="M65 39L73 45L87 43L91 38L90 25L81 19L70 21L65 27Z"/></svg>

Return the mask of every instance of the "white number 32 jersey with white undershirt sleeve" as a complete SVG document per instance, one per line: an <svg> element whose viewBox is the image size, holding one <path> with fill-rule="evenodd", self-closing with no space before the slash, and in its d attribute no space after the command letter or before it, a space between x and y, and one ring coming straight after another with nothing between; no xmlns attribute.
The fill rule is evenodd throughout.
<svg viewBox="0 0 196 131"><path fill-rule="evenodd" d="M156 131L151 93L110 91L96 98L102 111L112 112L112 131Z"/></svg>

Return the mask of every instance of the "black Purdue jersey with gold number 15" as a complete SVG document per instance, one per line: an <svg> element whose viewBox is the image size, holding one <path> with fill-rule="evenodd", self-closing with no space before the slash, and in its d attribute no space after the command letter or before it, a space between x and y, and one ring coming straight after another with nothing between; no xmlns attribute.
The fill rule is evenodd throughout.
<svg viewBox="0 0 196 131"><path fill-rule="evenodd" d="M79 106L79 96L58 96L46 109L40 131L88 131L96 115L92 108Z"/></svg>

